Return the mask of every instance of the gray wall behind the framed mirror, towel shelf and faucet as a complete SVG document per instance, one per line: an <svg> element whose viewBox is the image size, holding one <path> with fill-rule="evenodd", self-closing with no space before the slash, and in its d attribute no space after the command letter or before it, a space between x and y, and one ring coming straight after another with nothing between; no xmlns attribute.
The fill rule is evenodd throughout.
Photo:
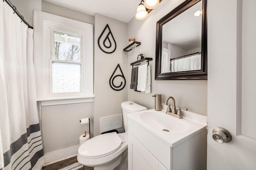
<svg viewBox="0 0 256 170"><path fill-rule="evenodd" d="M136 49L128 52L128 63L136 61L137 55L142 52L144 57L152 57L151 67L151 94L134 92L128 89L128 100L141 104L148 109L154 108L152 94L162 94L162 100L173 96L176 107L186 107L189 111L200 115L207 115L207 80L154 80L155 47L156 47L156 22L168 14L184 0L162 1L157 8L152 10L145 20L132 20L128 23L128 37L141 42ZM130 85L130 72L128 67L128 80ZM172 102L170 101L172 105Z"/></svg>

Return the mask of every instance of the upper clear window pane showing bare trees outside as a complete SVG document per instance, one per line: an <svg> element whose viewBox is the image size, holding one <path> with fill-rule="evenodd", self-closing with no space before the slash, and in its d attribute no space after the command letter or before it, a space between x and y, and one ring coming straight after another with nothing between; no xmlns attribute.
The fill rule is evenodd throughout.
<svg viewBox="0 0 256 170"><path fill-rule="evenodd" d="M80 61L80 37L54 31L54 59Z"/></svg>

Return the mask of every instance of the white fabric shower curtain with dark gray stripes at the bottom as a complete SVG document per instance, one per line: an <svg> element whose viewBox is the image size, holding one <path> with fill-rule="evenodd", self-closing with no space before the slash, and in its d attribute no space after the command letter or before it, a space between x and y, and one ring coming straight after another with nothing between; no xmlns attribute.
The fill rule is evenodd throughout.
<svg viewBox="0 0 256 170"><path fill-rule="evenodd" d="M0 2L0 170L40 170L43 165L33 29Z"/></svg>

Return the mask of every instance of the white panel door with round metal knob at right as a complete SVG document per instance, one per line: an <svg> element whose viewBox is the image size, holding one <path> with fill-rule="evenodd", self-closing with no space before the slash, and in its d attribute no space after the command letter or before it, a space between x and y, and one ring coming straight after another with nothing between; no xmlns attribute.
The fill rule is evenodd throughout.
<svg viewBox="0 0 256 170"><path fill-rule="evenodd" d="M208 0L207 170L256 170L255 7L255 0ZM214 127L232 141L214 141Z"/></svg>

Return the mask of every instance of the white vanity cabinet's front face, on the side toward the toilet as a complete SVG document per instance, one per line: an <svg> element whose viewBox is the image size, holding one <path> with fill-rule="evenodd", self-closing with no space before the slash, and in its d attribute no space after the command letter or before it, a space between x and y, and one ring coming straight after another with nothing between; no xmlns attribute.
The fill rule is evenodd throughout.
<svg viewBox="0 0 256 170"><path fill-rule="evenodd" d="M170 170L171 147L132 120L128 127L128 170Z"/></svg>

